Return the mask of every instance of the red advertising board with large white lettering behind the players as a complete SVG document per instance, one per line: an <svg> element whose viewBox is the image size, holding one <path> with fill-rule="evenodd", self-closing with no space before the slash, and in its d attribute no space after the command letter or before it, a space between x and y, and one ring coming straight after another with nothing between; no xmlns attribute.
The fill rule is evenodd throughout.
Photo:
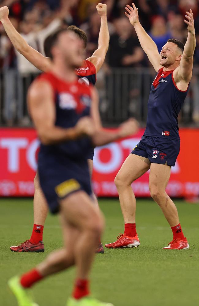
<svg viewBox="0 0 199 306"><path fill-rule="evenodd" d="M139 142L133 137L95 149L93 187L98 196L117 196L114 178L123 161ZM181 129L181 149L167 186L170 196L199 195L199 129ZM0 196L32 196L39 141L34 129L0 129ZM136 196L150 196L149 172L132 186Z"/></svg>

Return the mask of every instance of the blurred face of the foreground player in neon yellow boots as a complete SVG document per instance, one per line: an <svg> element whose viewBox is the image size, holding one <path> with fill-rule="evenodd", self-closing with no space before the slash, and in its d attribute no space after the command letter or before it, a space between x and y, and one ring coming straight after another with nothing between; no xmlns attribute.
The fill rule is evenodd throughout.
<svg viewBox="0 0 199 306"><path fill-rule="evenodd" d="M82 65L84 60L84 43L72 31L63 32L59 35L58 50L63 60L71 67Z"/></svg>

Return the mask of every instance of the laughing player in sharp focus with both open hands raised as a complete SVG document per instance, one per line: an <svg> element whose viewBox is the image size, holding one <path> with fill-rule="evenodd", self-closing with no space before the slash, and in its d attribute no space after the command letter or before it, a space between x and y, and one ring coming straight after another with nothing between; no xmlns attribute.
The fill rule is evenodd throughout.
<svg viewBox="0 0 199 306"><path fill-rule="evenodd" d="M193 52L196 46L193 13L186 12L186 44L169 39L160 54L154 41L145 32L138 18L136 6L126 6L126 16L135 28L141 47L157 72L148 99L148 117L145 133L119 170L117 186L125 222L124 234L118 236L107 248L137 247L140 244L136 232L136 200L131 188L133 181L150 169L149 190L162 209L171 226L173 240L164 249L188 249L174 202L165 189L171 174L171 166L180 150L178 114L186 98L193 69Z"/></svg>

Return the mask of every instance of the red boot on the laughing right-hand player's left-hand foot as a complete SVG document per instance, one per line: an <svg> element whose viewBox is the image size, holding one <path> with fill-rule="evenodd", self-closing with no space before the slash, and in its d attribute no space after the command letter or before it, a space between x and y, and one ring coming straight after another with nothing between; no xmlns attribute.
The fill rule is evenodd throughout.
<svg viewBox="0 0 199 306"><path fill-rule="evenodd" d="M105 244L106 248L137 248L140 245L139 238L137 234L135 237L126 236L126 234L120 234L117 240L113 243Z"/></svg>

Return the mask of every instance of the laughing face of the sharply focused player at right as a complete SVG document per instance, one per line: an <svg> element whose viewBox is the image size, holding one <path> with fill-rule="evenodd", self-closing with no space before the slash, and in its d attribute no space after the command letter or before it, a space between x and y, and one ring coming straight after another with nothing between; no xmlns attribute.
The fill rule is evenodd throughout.
<svg viewBox="0 0 199 306"><path fill-rule="evenodd" d="M163 67L169 67L173 65L176 60L180 58L179 48L175 43L166 43L160 52L160 65Z"/></svg>

